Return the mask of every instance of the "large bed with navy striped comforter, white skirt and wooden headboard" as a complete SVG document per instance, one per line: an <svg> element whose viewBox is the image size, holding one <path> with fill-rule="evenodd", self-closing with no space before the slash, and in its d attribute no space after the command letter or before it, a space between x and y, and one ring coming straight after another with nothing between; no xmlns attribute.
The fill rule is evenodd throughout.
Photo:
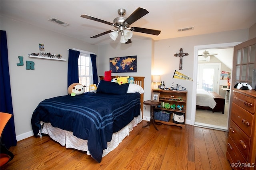
<svg viewBox="0 0 256 170"><path fill-rule="evenodd" d="M97 93L40 102L31 119L34 136L48 134L101 162L142 121L144 77L124 85L100 79Z"/></svg>

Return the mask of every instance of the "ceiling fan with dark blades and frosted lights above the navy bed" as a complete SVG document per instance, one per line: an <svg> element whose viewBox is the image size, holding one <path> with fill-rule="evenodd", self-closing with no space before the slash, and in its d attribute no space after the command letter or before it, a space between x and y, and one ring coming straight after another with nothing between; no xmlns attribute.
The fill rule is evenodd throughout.
<svg viewBox="0 0 256 170"><path fill-rule="evenodd" d="M116 38L118 37L118 34L121 34L121 38L120 38L120 42L121 43L131 43L131 38L132 38L132 32L141 32L141 33L146 33L146 34L152 34L152 35L159 35L160 34L160 30L152 30L152 29L148 29L148 28L139 28L139 27L130 27L130 25L132 23L134 23L135 21L137 21L138 19L142 18L144 15L148 14L148 11L144 8L138 8L137 10L135 10L130 16L128 16L128 18L125 18L124 15L126 13L125 9L119 9L118 10L118 14L119 17L115 18L113 20L113 23L111 22L107 22L98 18L94 18L92 16L89 15L81 15L82 18L86 18L89 20L94 20L97 22L101 22L104 24L108 24L110 26L114 26L116 28L116 30L109 30L106 32L103 32L101 34L92 36L90 38L98 38L100 36L103 36L105 34L109 33L109 36L112 40L116 40Z"/></svg>

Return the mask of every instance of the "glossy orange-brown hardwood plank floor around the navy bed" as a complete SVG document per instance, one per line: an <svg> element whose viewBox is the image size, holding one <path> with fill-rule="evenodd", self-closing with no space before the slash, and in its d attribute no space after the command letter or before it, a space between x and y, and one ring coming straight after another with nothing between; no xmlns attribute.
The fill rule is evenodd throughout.
<svg viewBox="0 0 256 170"><path fill-rule="evenodd" d="M48 136L30 137L11 147L14 159L1 170L231 170L226 159L228 132L143 121L97 163L85 152L68 149Z"/></svg>

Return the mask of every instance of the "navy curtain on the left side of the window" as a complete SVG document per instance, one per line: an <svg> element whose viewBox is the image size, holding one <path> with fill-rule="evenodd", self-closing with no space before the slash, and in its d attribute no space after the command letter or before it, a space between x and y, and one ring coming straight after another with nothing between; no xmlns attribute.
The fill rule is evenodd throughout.
<svg viewBox="0 0 256 170"><path fill-rule="evenodd" d="M68 87L72 83L78 83L78 58L80 51L68 50Z"/></svg>

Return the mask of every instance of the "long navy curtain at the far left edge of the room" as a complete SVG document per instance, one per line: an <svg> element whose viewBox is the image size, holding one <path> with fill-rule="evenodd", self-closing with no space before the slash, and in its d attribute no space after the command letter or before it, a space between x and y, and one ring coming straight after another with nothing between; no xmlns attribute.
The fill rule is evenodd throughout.
<svg viewBox="0 0 256 170"><path fill-rule="evenodd" d="M0 111L4 113L12 114L11 119L6 124L2 133L1 142L10 148L10 146L16 146L16 134L14 127L14 117L12 109L12 93L10 84L9 62L8 62L8 48L6 31L1 30L1 46L0 46L0 61L1 61L1 80L0 80Z"/></svg>

